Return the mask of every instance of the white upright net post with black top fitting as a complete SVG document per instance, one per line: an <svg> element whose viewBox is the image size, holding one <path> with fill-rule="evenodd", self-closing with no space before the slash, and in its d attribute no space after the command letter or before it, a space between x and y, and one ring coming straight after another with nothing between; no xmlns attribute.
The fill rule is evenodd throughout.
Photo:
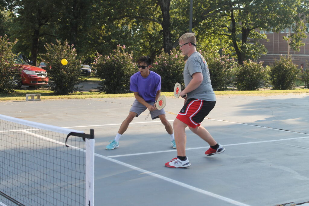
<svg viewBox="0 0 309 206"><path fill-rule="evenodd" d="M94 205L94 130L90 129L90 138L86 138L86 206Z"/></svg>

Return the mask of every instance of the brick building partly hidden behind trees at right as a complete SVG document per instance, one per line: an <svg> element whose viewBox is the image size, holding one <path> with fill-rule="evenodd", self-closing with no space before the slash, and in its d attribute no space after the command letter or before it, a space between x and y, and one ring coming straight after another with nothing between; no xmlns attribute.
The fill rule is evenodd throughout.
<svg viewBox="0 0 309 206"><path fill-rule="evenodd" d="M274 59L279 59L280 55L287 56L288 53L293 60L294 64L297 64L299 67L307 68L307 62L309 62L309 24L307 23L307 39L304 39L304 46L300 47L300 51L294 51L289 48L288 43L283 40L283 36L289 35L291 31L289 28L281 30L279 33L272 31L259 31L260 33L265 33L269 41L267 40L259 40L261 44L264 44L267 48L268 52L266 55L261 56L258 61L264 61L264 66L273 63Z"/></svg>

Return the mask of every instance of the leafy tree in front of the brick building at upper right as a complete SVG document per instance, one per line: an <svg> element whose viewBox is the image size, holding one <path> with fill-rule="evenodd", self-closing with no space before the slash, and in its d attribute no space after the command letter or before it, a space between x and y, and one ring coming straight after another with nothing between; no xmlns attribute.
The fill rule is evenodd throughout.
<svg viewBox="0 0 309 206"><path fill-rule="evenodd" d="M296 31L289 37L291 47L298 49L301 39L304 37L305 28L302 27L304 15L308 14L307 8L301 0L243 0L223 1L226 3L226 11L214 15L212 18L223 18L225 23L218 21L223 30L218 34L227 36L232 43L235 55L240 65L247 59L257 59L261 53L266 53L263 45L256 40L265 38L256 29L266 31L280 31L283 28L295 25ZM248 41L250 39L250 41Z"/></svg>

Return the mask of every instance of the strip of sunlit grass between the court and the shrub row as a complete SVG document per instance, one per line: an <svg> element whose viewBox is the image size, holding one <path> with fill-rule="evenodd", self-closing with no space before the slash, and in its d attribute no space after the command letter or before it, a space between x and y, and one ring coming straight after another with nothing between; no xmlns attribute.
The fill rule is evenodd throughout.
<svg viewBox="0 0 309 206"><path fill-rule="evenodd" d="M128 94L104 94L99 92L76 92L70 95L55 95L49 90L15 90L10 94L0 94L0 101L23 101L26 94L41 94L41 99L87 99L87 98L115 98L115 97L134 97L133 93ZM257 91L215 91L216 95L282 95L290 93L309 93L308 89L295 90L257 90ZM173 96L173 92L161 92L167 97Z"/></svg>

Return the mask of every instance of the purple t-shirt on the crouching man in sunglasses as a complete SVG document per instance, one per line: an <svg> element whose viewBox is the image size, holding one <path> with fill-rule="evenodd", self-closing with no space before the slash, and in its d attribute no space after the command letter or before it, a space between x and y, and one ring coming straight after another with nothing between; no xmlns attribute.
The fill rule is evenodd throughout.
<svg viewBox="0 0 309 206"><path fill-rule="evenodd" d="M148 77L144 78L140 72L137 72L130 78L130 90L138 92L146 102L154 102L157 91L161 90L161 77L150 71Z"/></svg>

